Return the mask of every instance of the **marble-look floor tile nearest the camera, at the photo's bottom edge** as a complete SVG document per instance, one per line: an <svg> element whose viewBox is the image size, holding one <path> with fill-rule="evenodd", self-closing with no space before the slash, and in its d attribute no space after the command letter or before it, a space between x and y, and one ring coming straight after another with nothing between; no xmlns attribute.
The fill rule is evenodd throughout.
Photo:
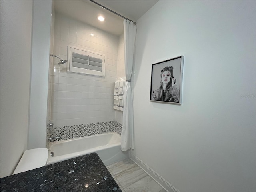
<svg viewBox="0 0 256 192"><path fill-rule="evenodd" d="M136 183L124 188L124 190L125 192L162 192L163 188L150 176L146 176Z"/></svg>

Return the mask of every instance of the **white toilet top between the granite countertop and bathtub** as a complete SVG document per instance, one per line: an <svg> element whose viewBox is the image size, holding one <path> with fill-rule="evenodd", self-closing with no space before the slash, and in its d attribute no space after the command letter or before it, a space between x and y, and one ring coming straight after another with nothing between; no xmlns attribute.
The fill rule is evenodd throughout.
<svg viewBox="0 0 256 192"><path fill-rule="evenodd" d="M46 165L47 158L48 158L47 148L37 148L37 149L26 150L23 153L16 169L14 170L13 175L24 172L24 171L43 167Z"/></svg>

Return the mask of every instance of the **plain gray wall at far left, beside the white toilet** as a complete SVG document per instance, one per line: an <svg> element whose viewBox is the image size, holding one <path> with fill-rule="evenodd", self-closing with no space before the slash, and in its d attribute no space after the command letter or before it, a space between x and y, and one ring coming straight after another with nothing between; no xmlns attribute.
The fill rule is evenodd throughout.
<svg viewBox="0 0 256 192"><path fill-rule="evenodd" d="M1 177L27 148L32 6L1 0Z"/></svg>

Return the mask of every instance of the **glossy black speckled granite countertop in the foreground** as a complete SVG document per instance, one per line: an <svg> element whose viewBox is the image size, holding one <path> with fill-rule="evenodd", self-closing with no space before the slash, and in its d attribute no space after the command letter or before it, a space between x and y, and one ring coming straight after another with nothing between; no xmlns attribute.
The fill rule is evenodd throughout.
<svg viewBox="0 0 256 192"><path fill-rule="evenodd" d="M122 192L96 153L0 179L1 192Z"/></svg>

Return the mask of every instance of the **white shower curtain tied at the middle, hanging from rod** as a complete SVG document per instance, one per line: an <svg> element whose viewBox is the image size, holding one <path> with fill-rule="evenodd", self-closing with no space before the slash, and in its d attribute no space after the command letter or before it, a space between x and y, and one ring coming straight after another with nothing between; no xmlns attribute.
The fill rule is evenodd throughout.
<svg viewBox="0 0 256 192"><path fill-rule="evenodd" d="M124 112L121 133L121 150L134 149L133 135L133 101L132 101L132 65L136 36L136 26L129 20L124 20L124 66L126 84L124 87Z"/></svg>

